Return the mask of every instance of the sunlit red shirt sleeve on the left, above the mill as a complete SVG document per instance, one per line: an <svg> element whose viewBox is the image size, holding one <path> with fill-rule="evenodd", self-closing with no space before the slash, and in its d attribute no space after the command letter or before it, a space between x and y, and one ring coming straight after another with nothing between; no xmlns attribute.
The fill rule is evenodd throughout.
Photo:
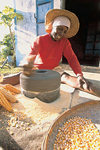
<svg viewBox="0 0 100 150"><path fill-rule="evenodd" d="M30 46L30 53L29 55L37 55L38 51L39 51L39 37L37 37L36 39L34 39L34 41L32 42L31 46Z"/></svg>

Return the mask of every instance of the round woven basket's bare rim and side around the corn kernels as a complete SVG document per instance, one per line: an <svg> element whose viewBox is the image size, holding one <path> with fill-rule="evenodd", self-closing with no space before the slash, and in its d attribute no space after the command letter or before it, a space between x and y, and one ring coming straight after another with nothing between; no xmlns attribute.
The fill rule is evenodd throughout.
<svg viewBox="0 0 100 150"><path fill-rule="evenodd" d="M61 114L50 127L47 136L42 143L41 150L53 150L58 128L62 127L67 120L75 116L91 119L98 130L100 130L100 101L89 101L79 104L71 110L67 110Z"/></svg>

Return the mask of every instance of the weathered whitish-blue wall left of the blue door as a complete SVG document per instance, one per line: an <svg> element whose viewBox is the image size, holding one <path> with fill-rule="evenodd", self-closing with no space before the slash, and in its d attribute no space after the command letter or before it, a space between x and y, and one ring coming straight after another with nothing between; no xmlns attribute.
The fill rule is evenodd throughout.
<svg viewBox="0 0 100 150"><path fill-rule="evenodd" d="M29 53L29 47L34 37L36 37L36 20L34 18L35 0L15 0L16 12L23 15L22 21L15 25L15 46L16 46L16 65Z"/></svg>

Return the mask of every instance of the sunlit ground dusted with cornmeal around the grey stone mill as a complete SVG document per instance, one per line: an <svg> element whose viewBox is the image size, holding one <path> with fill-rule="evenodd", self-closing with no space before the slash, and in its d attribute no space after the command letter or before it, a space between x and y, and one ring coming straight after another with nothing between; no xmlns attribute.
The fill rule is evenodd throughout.
<svg viewBox="0 0 100 150"><path fill-rule="evenodd" d="M73 75L73 71L68 69L67 66L65 65L62 67L59 66L59 68L57 69L59 72L66 70L69 74ZM94 84L100 87L99 70L95 71L93 70L93 68L91 68L90 70L88 70L87 68L84 69L85 69L83 71L84 77L87 79L91 79L94 82ZM20 85L16 85L16 87L20 88ZM10 115L9 119L21 115L22 118L31 120L33 123L29 126L30 129L27 131L23 129L23 126L20 125L20 122L18 124L19 126L18 128L10 126L9 130L6 130L7 127L5 127L4 138L1 136L1 139L5 139L3 140L2 144L4 144L6 148L7 146L11 148L13 146L15 148L16 142L17 149L19 150L20 149L40 150L44 137L45 135L47 135L47 132L50 126L52 125L53 121L55 121L55 119L57 119L57 117L59 117L63 112L65 112L66 110L70 109L73 106L85 103L87 101L91 100L100 101L100 97L96 97L94 95L79 90L75 90L74 88L64 84L61 84L60 86L60 97L52 103L44 103L37 98L30 99L22 94L16 95L16 98L18 99L18 103L12 104L14 114L12 114L12 116L11 114L9 114ZM100 109L98 108L98 110ZM2 115L4 114L3 110L1 110L1 114ZM2 117L4 118L4 116ZM98 118L100 118L100 115ZM23 122L23 119L20 121ZM98 126L100 129L100 123L98 123ZM4 130L0 131L4 133ZM11 133L13 133L13 135ZM6 134L9 137L5 136ZM14 140L13 142L14 144L13 143L10 144L10 141L12 142L12 139ZM8 145L5 145L5 141L6 144L8 142Z"/></svg>

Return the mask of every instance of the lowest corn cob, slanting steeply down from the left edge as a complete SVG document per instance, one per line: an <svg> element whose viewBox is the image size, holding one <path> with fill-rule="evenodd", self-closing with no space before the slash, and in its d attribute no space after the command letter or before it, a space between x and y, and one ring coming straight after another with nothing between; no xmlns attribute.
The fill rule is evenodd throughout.
<svg viewBox="0 0 100 150"><path fill-rule="evenodd" d="M8 100L5 98L5 96L0 92L0 105L2 105L6 110L12 111L12 106L8 102Z"/></svg>

